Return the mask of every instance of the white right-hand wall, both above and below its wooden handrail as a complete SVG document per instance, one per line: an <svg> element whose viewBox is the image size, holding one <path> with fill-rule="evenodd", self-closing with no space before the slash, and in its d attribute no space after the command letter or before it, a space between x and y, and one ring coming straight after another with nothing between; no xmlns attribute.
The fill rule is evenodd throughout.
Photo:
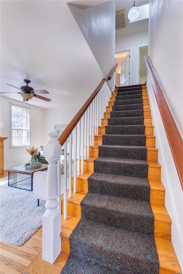
<svg viewBox="0 0 183 274"><path fill-rule="evenodd" d="M150 1L148 56L180 133L182 133L182 1ZM174 20L170 20L170 18ZM171 54L170 54L171 53ZM183 269L182 188L166 137L150 77L148 91L158 162L166 188L165 206L172 219L172 243Z"/></svg>

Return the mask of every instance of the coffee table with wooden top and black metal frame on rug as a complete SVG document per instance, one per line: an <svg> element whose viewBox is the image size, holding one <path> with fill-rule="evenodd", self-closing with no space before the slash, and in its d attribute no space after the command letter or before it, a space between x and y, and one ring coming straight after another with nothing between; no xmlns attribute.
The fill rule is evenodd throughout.
<svg viewBox="0 0 183 274"><path fill-rule="evenodd" d="M17 173L31 175L31 189L20 188L24 190L33 191L33 174L37 171L44 171L48 169L48 164L41 164L39 168L24 168L24 166L15 166L8 169L8 186L12 188L20 188L17 186ZM30 178L30 177L29 177ZM28 178L27 178L28 179Z"/></svg>

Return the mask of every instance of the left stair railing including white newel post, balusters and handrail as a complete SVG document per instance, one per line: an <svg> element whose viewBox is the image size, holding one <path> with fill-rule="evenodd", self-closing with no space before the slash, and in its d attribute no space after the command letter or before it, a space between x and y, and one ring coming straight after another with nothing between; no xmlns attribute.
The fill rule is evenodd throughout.
<svg viewBox="0 0 183 274"><path fill-rule="evenodd" d="M112 69L108 80L112 78L117 66L118 64ZM98 134L98 127L101 126L111 93L106 79L102 79L58 139L56 140L58 134L55 132L47 134L49 140L43 146L43 153L49 165L45 196L47 210L43 215L42 228L42 259L49 263L54 263L61 252L61 147L64 145L63 218L67 219L67 189L69 189L69 198L72 196L72 165L74 165L73 192L76 193L76 177L80 172L83 173L84 159L89 157L89 146L94 145L94 136ZM69 144L69 160L67 160L67 144Z"/></svg>

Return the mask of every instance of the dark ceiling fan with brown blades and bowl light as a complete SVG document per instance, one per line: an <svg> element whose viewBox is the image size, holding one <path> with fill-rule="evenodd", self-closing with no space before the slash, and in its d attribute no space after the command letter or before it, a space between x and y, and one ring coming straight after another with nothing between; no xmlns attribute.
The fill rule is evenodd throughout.
<svg viewBox="0 0 183 274"><path fill-rule="evenodd" d="M32 99L33 97L36 97L38 99L50 102L51 99L37 95L37 94L46 94L49 93L47 90L34 90L31 88L31 86L28 86L28 84L31 82L30 80L25 79L24 82L26 83L26 86L21 86L20 88L17 88L16 86L12 86L7 84L8 86L12 86L13 88L17 88L21 90L21 92L0 92L2 93L19 93L23 97L23 102L27 102L28 100Z"/></svg>

